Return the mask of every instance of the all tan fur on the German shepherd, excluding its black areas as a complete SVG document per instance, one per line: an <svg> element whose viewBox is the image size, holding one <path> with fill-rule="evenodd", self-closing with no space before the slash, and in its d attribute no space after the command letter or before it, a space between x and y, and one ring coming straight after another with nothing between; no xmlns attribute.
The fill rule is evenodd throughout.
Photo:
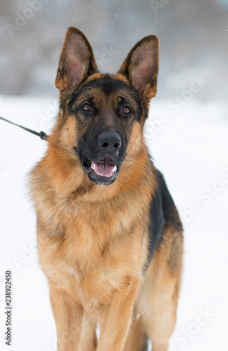
<svg viewBox="0 0 228 351"><path fill-rule="evenodd" d="M56 86L67 106L72 86L64 76L65 50ZM91 60L95 67L93 55ZM102 77L94 72L87 81ZM112 77L129 84L122 72ZM111 126L118 94L107 98L102 91L91 93ZM58 351L142 351L146 338L151 338L153 350L167 351L176 319L182 232L165 227L145 270L149 205L158 182L148 159L143 124L134 121L126 129L127 154L115 183L95 185L72 152L89 125L60 110L46 156L31 173L39 263L49 282Z"/></svg>

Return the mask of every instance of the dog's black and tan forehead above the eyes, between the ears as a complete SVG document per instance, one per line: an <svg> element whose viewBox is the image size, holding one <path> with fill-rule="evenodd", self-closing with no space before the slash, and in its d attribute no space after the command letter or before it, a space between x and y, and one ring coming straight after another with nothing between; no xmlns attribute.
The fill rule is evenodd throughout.
<svg viewBox="0 0 228 351"><path fill-rule="evenodd" d="M115 103L123 98L129 102L133 108L141 105L139 95L134 88L124 79L104 74L99 77L91 77L72 93L69 101L71 107L80 105L86 100L93 98L94 102L102 105L104 101Z"/></svg>

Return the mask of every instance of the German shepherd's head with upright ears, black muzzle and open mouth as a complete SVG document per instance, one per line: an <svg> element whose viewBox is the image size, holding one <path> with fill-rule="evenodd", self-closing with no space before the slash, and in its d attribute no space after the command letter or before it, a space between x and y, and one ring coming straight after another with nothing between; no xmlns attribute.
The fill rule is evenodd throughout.
<svg viewBox="0 0 228 351"><path fill-rule="evenodd" d="M126 154L139 154L157 76L156 36L141 39L119 72L110 75L99 72L84 34L68 28L56 77L61 116L58 128L63 131L60 143L97 185L112 184L121 173Z"/></svg>

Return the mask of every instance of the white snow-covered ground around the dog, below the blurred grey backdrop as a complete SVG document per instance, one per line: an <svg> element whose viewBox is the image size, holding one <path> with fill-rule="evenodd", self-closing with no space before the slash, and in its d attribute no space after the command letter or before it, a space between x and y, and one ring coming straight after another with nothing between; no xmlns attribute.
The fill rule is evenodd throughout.
<svg viewBox="0 0 228 351"><path fill-rule="evenodd" d="M51 98L0 97L0 115L48 132L56 114ZM184 274L170 351L227 347L228 116L222 102L194 98L178 108L154 99L146 139L184 222ZM35 216L27 173L46 142L0 121L0 349L5 344L4 274L12 270L11 351L56 350L49 289L37 263Z"/></svg>

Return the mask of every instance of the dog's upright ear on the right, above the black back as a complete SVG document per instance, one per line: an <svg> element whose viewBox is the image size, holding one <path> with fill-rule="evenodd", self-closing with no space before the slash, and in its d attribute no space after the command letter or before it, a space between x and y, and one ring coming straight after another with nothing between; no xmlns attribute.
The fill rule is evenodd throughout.
<svg viewBox="0 0 228 351"><path fill-rule="evenodd" d="M158 37L149 35L132 48L119 71L148 101L157 93L158 60Z"/></svg>

